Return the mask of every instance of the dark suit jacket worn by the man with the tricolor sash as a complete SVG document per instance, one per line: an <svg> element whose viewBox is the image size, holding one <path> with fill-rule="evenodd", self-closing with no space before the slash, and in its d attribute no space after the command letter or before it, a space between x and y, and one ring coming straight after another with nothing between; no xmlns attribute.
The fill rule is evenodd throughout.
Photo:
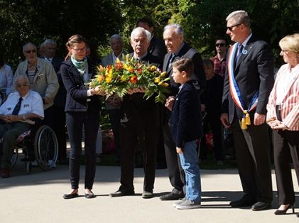
<svg viewBox="0 0 299 223"><path fill-rule="evenodd" d="M268 97L274 83L271 47L268 43L257 40L254 36L251 36L244 50L246 50L247 53L241 54L234 69L234 76L241 92L245 106L244 109L249 107L252 97L259 91L259 102L256 111L252 111L251 114L254 112L266 114ZM222 113L229 114L229 123L232 123L234 119L235 110L237 116L241 119L243 112L234 104L229 91L229 77L225 75Z"/></svg>

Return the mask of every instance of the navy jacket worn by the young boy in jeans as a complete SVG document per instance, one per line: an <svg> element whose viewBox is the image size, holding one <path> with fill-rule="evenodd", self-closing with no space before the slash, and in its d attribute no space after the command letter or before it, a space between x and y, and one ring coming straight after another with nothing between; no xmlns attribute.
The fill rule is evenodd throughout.
<svg viewBox="0 0 299 223"><path fill-rule="evenodd" d="M200 100L191 81L186 82L175 97L170 129L175 146L180 148L202 135Z"/></svg>

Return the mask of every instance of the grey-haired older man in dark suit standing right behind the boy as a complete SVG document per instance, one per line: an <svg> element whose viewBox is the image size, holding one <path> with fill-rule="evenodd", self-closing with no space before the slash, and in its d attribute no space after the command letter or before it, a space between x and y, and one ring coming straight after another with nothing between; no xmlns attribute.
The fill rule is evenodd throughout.
<svg viewBox="0 0 299 223"><path fill-rule="evenodd" d="M202 58L200 53L191 48L184 41L183 28L179 24L170 24L165 26L163 38L168 53L164 57L163 71L166 71L166 77L170 77L170 97L166 104L173 103L174 96L178 94L179 85L173 80L173 65L172 62L178 58L188 58L194 63L194 72L190 80L197 89L197 94L200 95L205 88L205 70L202 65ZM200 109L200 104L198 104ZM175 151L175 143L170 134L170 111L165 109L165 120L163 126L164 147L166 163L168 168L168 175L173 190L165 195L161 195L161 200L178 200L184 197L185 190L185 173L180 165L178 153ZM201 126L198 126L201 129Z"/></svg>

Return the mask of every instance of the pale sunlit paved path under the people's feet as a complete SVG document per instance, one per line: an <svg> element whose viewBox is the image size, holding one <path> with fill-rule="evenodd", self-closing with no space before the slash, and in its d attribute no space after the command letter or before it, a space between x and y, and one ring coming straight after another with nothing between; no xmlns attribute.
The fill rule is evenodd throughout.
<svg viewBox="0 0 299 223"><path fill-rule="evenodd" d="M81 169L82 175L83 171L84 167ZM153 199L141 198L141 169L135 171L136 195L109 197L109 193L119 187L120 168L97 166L93 189L97 197L92 200L85 197L63 200L62 194L70 190L67 165L58 165L48 172L34 168L31 175L26 175L23 163L18 163L11 178L0 178L0 222L299 222L295 214L273 214L278 206L275 175L272 175L275 190L273 209L254 212L248 208L229 207L230 200L242 195L237 170L202 170L201 173L202 208L176 210L172 201L162 202L158 198L171 189L167 170L157 170L156 197ZM295 190L299 191L295 180L294 185ZM80 195L84 195L83 188L81 183ZM298 208L296 211L299 212Z"/></svg>

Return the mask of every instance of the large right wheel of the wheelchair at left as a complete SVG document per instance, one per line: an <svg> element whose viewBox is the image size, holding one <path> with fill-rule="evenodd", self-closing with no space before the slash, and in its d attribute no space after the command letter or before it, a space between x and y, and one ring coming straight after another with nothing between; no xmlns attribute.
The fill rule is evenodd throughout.
<svg viewBox="0 0 299 223"><path fill-rule="evenodd" d="M40 126L36 131L34 153L41 169L50 170L55 167L58 158L58 141L55 132L49 126Z"/></svg>

